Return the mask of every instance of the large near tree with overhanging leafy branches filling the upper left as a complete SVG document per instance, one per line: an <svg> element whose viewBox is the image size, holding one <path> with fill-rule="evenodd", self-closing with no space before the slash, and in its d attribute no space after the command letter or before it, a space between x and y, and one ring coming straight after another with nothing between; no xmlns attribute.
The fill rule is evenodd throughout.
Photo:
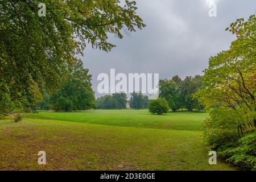
<svg viewBox="0 0 256 182"><path fill-rule="evenodd" d="M0 92L12 102L35 110L32 85L52 93L67 80L87 44L110 51L108 36L145 25L135 2L45 0L46 16L38 16L38 1L0 1Z"/></svg>

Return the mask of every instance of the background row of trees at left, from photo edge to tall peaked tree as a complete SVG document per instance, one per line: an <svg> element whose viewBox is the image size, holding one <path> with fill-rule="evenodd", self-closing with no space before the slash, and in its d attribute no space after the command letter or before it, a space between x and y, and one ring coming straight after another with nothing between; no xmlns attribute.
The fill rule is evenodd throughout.
<svg viewBox="0 0 256 182"><path fill-rule="evenodd" d="M83 67L82 61L75 59L70 72L65 75L59 89L47 92L42 86L34 83L32 88L33 101L23 98L22 101L12 101L7 94L0 93L0 117L9 113L27 113L36 110L89 110L95 109L96 101L92 90L91 75ZM34 103L35 106L31 106Z"/></svg>

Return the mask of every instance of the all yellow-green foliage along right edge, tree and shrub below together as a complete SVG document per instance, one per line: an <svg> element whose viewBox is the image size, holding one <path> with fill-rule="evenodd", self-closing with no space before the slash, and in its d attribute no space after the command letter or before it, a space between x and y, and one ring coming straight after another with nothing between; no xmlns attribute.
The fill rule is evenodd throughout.
<svg viewBox="0 0 256 182"><path fill-rule="evenodd" d="M255 169L256 18L238 19L227 30L237 36L227 51L210 57L202 89L195 94L211 109L203 140L234 164ZM251 134L254 133L254 134Z"/></svg>

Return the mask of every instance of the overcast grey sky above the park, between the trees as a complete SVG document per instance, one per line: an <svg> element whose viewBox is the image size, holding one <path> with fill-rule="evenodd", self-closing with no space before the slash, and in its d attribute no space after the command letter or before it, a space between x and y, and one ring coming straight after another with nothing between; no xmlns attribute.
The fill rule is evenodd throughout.
<svg viewBox="0 0 256 182"><path fill-rule="evenodd" d="M213 0L212 0L213 1ZM123 39L110 36L111 52L87 46L82 61L97 76L117 73L159 73L160 78L202 75L210 56L228 49L235 38L225 28L237 18L255 14L255 0L216 0L217 17L208 15L207 0L137 0L137 13L147 27Z"/></svg>

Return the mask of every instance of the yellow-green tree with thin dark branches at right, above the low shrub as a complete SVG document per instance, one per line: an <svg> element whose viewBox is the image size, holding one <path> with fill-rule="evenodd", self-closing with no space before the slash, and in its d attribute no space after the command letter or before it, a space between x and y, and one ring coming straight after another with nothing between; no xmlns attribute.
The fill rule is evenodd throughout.
<svg viewBox="0 0 256 182"><path fill-rule="evenodd" d="M237 36L227 51L209 60L204 71L203 89L197 93L208 108L215 107L224 121L237 126L240 135L251 132L256 124L256 18L238 19L230 32ZM236 117L233 117L236 115Z"/></svg>

